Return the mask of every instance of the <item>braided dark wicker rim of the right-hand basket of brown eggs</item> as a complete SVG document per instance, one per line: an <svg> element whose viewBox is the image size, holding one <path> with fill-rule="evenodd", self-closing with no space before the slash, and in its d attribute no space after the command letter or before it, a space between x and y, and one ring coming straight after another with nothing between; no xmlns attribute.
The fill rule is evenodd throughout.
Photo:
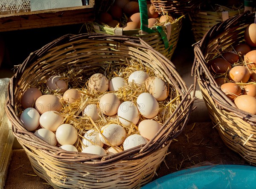
<svg viewBox="0 0 256 189"><path fill-rule="evenodd" d="M249 122L250 125L256 126L256 116L236 108L236 105L227 98L227 96L215 83L206 63L207 58L209 58L208 56L210 56L210 54L214 54L212 51L209 53L209 49L207 48L211 48L211 45L218 46L218 44L220 44L216 42L218 40L222 40L223 43L226 41L231 43L232 40L233 42L236 40L237 42L240 42L242 39L241 35L236 35L232 38L230 37L231 34L228 32L233 31L241 33L249 23L253 23L254 18L255 12L251 13L250 11L246 11L241 15L237 15L217 23L215 26L209 29L209 31L207 31L207 33L204 35L203 39L195 44L195 61L193 64L192 74L198 77L198 82L201 83L201 86L209 91L209 98L213 99L215 106L219 107L220 109L227 110L235 117L237 116L241 119L244 119L245 121ZM225 36L227 36L227 38L230 37L229 40L224 40ZM224 47L224 44L221 47ZM221 47L219 47L220 50ZM209 81L206 78L209 79Z"/></svg>

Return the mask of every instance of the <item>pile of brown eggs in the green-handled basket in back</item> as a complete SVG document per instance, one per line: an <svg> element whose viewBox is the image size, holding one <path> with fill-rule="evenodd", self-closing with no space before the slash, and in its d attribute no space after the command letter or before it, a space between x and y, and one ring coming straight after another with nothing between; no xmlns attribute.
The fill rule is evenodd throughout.
<svg viewBox="0 0 256 189"><path fill-rule="evenodd" d="M147 2L148 27L163 26L167 22L173 22L172 16L160 15L155 11L154 5ZM108 10L99 15L98 20L108 26L122 27L123 30L140 29L140 6L137 1L116 0Z"/></svg>

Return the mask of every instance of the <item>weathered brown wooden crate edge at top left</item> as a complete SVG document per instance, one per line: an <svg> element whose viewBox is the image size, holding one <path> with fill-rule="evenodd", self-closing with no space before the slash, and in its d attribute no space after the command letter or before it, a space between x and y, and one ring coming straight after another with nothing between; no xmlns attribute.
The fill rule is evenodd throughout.
<svg viewBox="0 0 256 189"><path fill-rule="evenodd" d="M85 23L95 20L94 0L88 6L0 15L0 32Z"/></svg>

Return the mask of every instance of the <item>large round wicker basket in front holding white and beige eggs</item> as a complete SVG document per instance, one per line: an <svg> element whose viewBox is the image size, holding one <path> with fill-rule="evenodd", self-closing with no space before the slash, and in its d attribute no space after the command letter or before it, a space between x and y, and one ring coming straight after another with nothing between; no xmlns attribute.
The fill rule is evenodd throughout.
<svg viewBox="0 0 256 189"><path fill-rule="evenodd" d="M120 60L135 60L163 76L175 90L177 108L146 145L104 157L63 151L27 131L19 119L20 96L54 70L80 68L92 75L103 65ZM36 174L54 188L139 188L151 181L163 161L172 139L183 131L195 100L195 85L189 89L174 65L140 38L95 33L64 35L32 52L11 78L7 115L15 137L23 146Z"/></svg>

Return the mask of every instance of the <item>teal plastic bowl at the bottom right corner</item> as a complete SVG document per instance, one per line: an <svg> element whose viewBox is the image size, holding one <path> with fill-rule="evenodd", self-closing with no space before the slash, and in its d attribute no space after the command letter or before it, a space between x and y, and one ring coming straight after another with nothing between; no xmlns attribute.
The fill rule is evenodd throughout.
<svg viewBox="0 0 256 189"><path fill-rule="evenodd" d="M184 169L141 189L256 189L256 167L213 165Z"/></svg>

